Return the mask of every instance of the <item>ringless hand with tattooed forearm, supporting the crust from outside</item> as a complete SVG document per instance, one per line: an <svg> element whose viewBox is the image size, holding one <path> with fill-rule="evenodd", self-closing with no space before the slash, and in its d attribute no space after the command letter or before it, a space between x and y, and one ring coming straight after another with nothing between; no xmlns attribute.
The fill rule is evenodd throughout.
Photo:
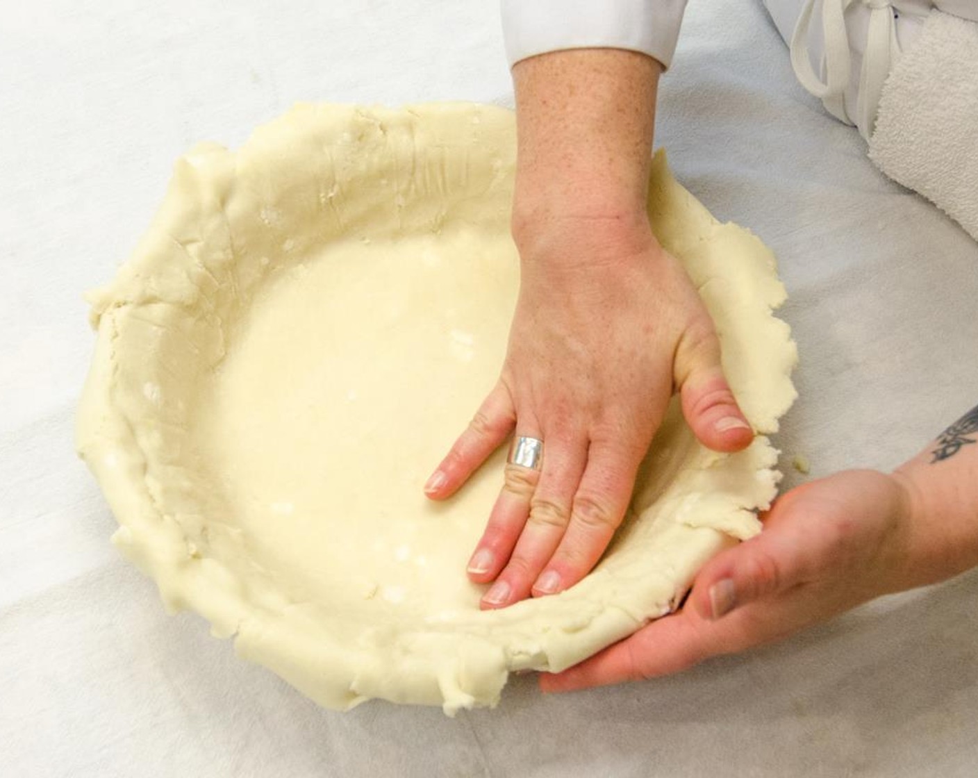
<svg viewBox="0 0 978 778"><path fill-rule="evenodd" d="M845 471L792 489L761 534L703 567L680 612L542 675L541 687L565 692L679 672L978 566L976 443L978 407L891 476Z"/></svg>

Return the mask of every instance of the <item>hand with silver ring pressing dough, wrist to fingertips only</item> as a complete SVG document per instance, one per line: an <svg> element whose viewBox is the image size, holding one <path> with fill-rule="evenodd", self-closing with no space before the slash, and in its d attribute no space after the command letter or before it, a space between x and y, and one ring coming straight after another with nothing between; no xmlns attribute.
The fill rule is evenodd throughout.
<svg viewBox="0 0 978 778"><path fill-rule="evenodd" d="M515 428L544 440L542 471L509 465L470 577L483 607L553 594L598 562L674 386L693 432L731 451L753 434L720 367L713 323L644 214L534 219L496 388L439 465L428 494L458 489ZM530 237L528 237L530 236Z"/></svg>

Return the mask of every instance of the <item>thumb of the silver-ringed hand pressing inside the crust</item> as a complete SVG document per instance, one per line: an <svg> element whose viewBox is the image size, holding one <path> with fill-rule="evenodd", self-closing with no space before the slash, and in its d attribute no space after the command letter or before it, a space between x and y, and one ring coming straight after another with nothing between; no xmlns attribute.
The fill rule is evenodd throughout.
<svg viewBox="0 0 978 778"><path fill-rule="evenodd" d="M754 431L737 405L720 362L712 325L688 330L676 349L675 381L693 435L714 451L739 451Z"/></svg>

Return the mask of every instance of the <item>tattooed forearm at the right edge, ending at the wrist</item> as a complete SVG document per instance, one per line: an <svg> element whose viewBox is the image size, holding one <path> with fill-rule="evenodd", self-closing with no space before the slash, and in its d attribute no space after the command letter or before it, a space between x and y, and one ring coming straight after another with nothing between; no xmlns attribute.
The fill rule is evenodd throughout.
<svg viewBox="0 0 978 778"><path fill-rule="evenodd" d="M910 495L911 585L978 566L978 407L895 475Z"/></svg>

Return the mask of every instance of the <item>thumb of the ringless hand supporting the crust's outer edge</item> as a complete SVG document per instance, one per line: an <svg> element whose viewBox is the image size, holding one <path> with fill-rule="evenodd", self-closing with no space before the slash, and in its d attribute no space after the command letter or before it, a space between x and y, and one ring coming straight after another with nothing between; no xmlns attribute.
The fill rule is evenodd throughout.
<svg viewBox="0 0 978 778"><path fill-rule="evenodd" d="M804 579L804 550L793 533L765 529L723 551L696 575L692 606L703 618L723 618L733 609L791 588Z"/></svg>

